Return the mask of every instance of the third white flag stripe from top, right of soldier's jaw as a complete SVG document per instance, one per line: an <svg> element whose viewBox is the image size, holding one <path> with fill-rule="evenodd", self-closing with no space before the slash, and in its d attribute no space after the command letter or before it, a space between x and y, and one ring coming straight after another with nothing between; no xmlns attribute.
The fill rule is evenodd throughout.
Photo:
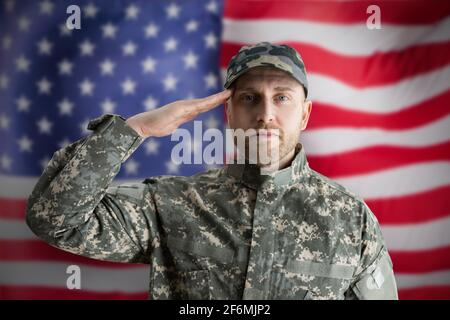
<svg viewBox="0 0 450 320"><path fill-rule="evenodd" d="M427 147L450 140L450 115L408 130L366 128L306 129L301 135L310 156L354 151L372 146Z"/></svg>

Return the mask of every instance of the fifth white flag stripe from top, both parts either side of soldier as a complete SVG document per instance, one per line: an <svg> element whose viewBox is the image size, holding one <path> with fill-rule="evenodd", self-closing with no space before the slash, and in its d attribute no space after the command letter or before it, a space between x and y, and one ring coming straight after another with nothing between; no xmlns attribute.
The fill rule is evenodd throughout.
<svg viewBox="0 0 450 320"><path fill-rule="evenodd" d="M450 217L419 224L382 225L381 228L389 250L425 250L450 245ZM0 219L0 240L36 239L25 222Z"/></svg>

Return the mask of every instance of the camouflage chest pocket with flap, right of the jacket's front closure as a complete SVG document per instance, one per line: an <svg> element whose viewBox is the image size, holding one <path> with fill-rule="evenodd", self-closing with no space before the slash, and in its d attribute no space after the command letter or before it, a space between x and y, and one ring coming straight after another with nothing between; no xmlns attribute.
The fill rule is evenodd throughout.
<svg viewBox="0 0 450 320"><path fill-rule="evenodd" d="M356 268L315 261L289 260L275 272L277 299L344 299Z"/></svg>

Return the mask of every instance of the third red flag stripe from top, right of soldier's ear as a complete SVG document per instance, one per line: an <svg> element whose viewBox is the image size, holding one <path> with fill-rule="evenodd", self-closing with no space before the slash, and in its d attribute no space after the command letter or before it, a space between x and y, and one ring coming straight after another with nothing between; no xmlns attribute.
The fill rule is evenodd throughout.
<svg viewBox="0 0 450 320"><path fill-rule="evenodd" d="M450 114L450 90L433 98L388 114L345 110L332 105L314 103L307 129L330 127L410 129L426 125ZM424 112L426 110L426 112Z"/></svg>

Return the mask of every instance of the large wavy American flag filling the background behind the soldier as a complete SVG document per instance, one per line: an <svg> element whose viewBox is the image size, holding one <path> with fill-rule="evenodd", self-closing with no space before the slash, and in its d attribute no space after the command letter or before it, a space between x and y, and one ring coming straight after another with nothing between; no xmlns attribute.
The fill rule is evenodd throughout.
<svg viewBox="0 0 450 320"><path fill-rule="evenodd" d="M148 266L50 247L27 228L26 199L53 153L89 134L89 120L221 91L230 58L260 41L302 55L309 164L375 213L400 299L450 299L450 2L0 3L0 299L146 299ZM69 5L81 9L80 30L66 27ZM381 29L366 24L370 5ZM197 120L226 127L222 107ZM173 164L176 143L147 139L114 184L208 168ZM201 148L193 141L191 152ZM66 286L70 265L81 269L80 290Z"/></svg>

